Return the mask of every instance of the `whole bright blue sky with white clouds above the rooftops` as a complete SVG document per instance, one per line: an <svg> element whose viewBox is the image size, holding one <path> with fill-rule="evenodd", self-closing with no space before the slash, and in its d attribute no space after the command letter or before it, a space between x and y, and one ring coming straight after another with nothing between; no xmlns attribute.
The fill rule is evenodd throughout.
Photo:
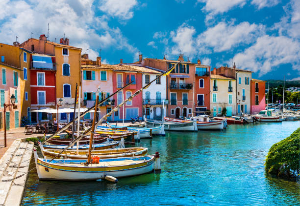
<svg viewBox="0 0 300 206"><path fill-rule="evenodd" d="M1 0L0 39L47 34L103 62L185 59L300 80L299 0Z"/></svg>

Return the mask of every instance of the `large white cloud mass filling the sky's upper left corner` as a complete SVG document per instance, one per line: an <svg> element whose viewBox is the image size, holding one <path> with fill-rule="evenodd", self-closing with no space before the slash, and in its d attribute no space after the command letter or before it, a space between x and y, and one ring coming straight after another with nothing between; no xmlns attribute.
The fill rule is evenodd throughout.
<svg viewBox="0 0 300 206"><path fill-rule="evenodd" d="M89 48L91 57L98 56L100 48L111 46L134 54L138 49L128 43L119 28L109 27L107 17L95 15L93 3L94 0L1 0L0 6L6 9L0 11L0 39L11 44L18 36L18 41L23 42L30 32L33 38L39 38L47 34L49 22L50 41L59 41L65 34L71 45L81 47L83 52Z"/></svg>

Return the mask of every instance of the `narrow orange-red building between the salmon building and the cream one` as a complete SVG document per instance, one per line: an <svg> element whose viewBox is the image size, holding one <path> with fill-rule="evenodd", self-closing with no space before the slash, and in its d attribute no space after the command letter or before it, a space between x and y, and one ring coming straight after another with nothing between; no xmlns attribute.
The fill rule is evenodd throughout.
<svg viewBox="0 0 300 206"><path fill-rule="evenodd" d="M210 66L202 65L201 61L198 60L195 69L194 114L207 113L210 115Z"/></svg>

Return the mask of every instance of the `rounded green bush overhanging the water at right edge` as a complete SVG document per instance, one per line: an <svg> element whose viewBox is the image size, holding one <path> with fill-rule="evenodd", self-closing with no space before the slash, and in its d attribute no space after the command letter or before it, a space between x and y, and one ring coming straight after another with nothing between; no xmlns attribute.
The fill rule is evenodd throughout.
<svg viewBox="0 0 300 206"><path fill-rule="evenodd" d="M279 175L299 175L300 128L291 136L273 144L266 159L266 172Z"/></svg>

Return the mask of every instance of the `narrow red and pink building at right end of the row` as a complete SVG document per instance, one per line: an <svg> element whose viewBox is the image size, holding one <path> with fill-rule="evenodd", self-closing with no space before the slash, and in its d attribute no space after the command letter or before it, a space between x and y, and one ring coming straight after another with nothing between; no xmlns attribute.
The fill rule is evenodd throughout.
<svg viewBox="0 0 300 206"><path fill-rule="evenodd" d="M251 80L251 114L256 114L266 107L266 82L262 80Z"/></svg>

